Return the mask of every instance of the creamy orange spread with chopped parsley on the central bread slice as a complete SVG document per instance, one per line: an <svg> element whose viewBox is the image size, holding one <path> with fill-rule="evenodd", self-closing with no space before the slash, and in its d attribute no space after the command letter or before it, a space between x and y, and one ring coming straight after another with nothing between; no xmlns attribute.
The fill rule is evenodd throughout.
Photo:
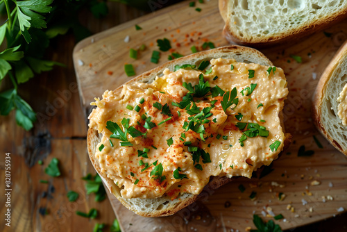
<svg viewBox="0 0 347 232"><path fill-rule="evenodd" d="M199 194L210 176L251 178L283 149L282 69L223 58L175 68L92 103L89 126L103 135L95 159L124 198L174 199Z"/></svg>

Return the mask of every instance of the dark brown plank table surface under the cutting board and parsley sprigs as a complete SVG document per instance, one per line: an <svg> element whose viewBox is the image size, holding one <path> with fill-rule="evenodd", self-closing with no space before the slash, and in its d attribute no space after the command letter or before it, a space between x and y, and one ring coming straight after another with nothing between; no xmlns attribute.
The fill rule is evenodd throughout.
<svg viewBox="0 0 347 232"><path fill-rule="evenodd" d="M117 26L146 14L141 10L119 3L108 3L109 14L104 19L94 19L90 13L81 14L81 22L92 33ZM38 120L31 131L24 131L15 123L15 114L0 117L0 231L92 231L94 224L105 223L104 231L115 219L108 199L95 202L94 196L85 192L82 176L94 174L87 156L87 122L81 107L72 63L76 44L72 35L60 36L52 43L49 57L66 67L55 67L52 72L35 76L19 85L19 94L33 106ZM5 154L11 157L11 226L4 222L6 210ZM52 158L60 160L62 175L56 178L44 173ZM42 159L44 164L38 165ZM49 181L48 184L40 180ZM69 202L66 194L74 190L80 194L76 202ZM44 196L43 192L48 192ZM41 215L46 208L48 215ZM76 215L76 210L99 210L99 217L87 219ZM347 231L347 215L317 222L294 231Z"/></svg>

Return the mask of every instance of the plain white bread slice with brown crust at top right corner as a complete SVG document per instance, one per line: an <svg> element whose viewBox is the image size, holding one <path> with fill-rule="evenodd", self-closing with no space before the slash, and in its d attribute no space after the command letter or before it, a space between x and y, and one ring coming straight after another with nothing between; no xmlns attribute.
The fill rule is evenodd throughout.
<svg viewBox="0 0 347 232"><path fill-rule="evenodd" d="M347 17L347 1L219 0L229 42L265 47L298 40Z"/></svg>

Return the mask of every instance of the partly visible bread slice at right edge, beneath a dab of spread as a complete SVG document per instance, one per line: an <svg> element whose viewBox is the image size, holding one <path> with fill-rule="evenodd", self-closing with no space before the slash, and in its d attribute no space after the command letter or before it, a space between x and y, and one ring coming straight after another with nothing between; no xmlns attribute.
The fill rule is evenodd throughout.
<svg viewBox="0 0 347 232"><path fill-rule="evenodd" d="M339 117L340 92L347 84L347 42L332 58L316 87L313 99L314 122L321 133L347 156L347 126ZM344 100L347 101L346 96Z"/></svg>

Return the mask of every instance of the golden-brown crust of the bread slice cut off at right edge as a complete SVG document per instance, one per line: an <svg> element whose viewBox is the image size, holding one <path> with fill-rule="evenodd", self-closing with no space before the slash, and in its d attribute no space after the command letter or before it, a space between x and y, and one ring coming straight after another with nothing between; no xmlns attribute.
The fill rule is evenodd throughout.
<svg viewBox="0 0 347 232"><path fill-rule="evenodd" d="M321 75L321 78L319 79L319 83L316 87L316 90L314 91L313 99L312 99L312 117L314 119L314 124L316 125L316 128L321 132L322 135L327 138L327 140L336 147L341 153L345 154L347 156L347 150L344 150L341 148L339 143L332 138L328 132L324 129L324 126L322 124L322 114L321 114L321 105L323 102L323 97L326 91L326 88L328 87L328 83L330 82L331 78L334 78L332 76L333 71L336 69L339 60L347 58L347 41L341 45L335 56L330 61L329 65L325 68L323 74Z"/></svg>

